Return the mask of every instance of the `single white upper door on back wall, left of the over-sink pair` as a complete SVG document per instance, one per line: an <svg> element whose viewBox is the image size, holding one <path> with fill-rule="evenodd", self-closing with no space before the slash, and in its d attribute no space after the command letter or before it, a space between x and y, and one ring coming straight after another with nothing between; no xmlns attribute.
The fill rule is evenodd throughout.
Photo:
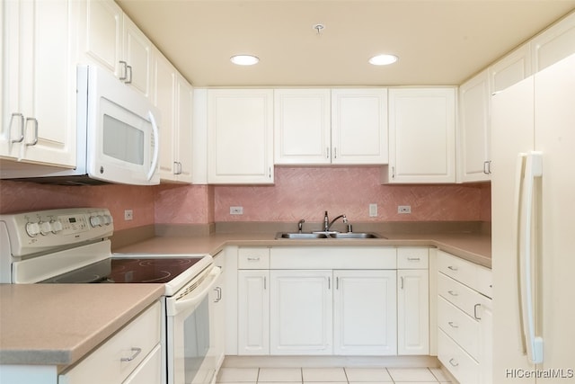
<svg viewBox="0 0 575 384"><path fill-rule="evenodd" d="M208 90L208 183L273 183L273 90Z"/></svg>

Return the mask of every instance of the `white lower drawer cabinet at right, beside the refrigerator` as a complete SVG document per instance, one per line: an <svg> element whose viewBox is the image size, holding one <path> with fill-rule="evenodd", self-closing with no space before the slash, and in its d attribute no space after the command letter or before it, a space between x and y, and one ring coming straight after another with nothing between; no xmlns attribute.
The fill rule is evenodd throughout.
<svg viewBox="0 0 575 384"><path fill-rule="evenodd" d="M461 384L492 381L491 271L438 251L438 359Z"/></svg>

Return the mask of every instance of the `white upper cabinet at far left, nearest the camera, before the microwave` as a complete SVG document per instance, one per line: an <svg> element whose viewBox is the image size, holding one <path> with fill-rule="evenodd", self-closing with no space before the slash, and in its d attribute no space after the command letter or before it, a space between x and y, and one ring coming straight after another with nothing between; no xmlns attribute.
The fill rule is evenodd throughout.
<svg viewBox="0 0 575 384"><path fill-rule="evenodd" d="M75 6L3 2L0 156L75 166Z"/></svg>

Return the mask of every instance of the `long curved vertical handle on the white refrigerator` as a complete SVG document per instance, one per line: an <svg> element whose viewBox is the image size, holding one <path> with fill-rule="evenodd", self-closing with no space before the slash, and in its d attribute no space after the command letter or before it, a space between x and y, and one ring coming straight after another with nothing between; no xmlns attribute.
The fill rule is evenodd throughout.
<svg viewBox="0 0 575 384"><path fill-rule="evenodd" d="M535 178L543 174L541 152L519 154L517 159L516 189L517 209L517 246L519 257L519 299L522 311L521 323L526 338L526 352L529 362L543 362L543 338L535 335L535 302L533 295L532 263L532 220L535 197ZM525 164L525 167L524 167ZM523 172L525 170L525 172ZM521 175L523 174L523 177ZM521 180L523 179L523 180Z"/></svg>

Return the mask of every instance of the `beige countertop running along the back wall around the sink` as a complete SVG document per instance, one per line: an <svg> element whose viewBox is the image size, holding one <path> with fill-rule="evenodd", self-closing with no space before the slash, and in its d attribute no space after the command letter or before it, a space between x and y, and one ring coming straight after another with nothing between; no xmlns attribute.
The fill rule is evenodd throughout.
<svg viewBox="0 0 575 384"><path fill-rule="evenodd" d="M205 237L153 237L116 249L126 254L209 254L225 246L437 246L491 268L491 237L478 234L382 234L378 239L275 239L275 234L215 234Z"/></svg>

